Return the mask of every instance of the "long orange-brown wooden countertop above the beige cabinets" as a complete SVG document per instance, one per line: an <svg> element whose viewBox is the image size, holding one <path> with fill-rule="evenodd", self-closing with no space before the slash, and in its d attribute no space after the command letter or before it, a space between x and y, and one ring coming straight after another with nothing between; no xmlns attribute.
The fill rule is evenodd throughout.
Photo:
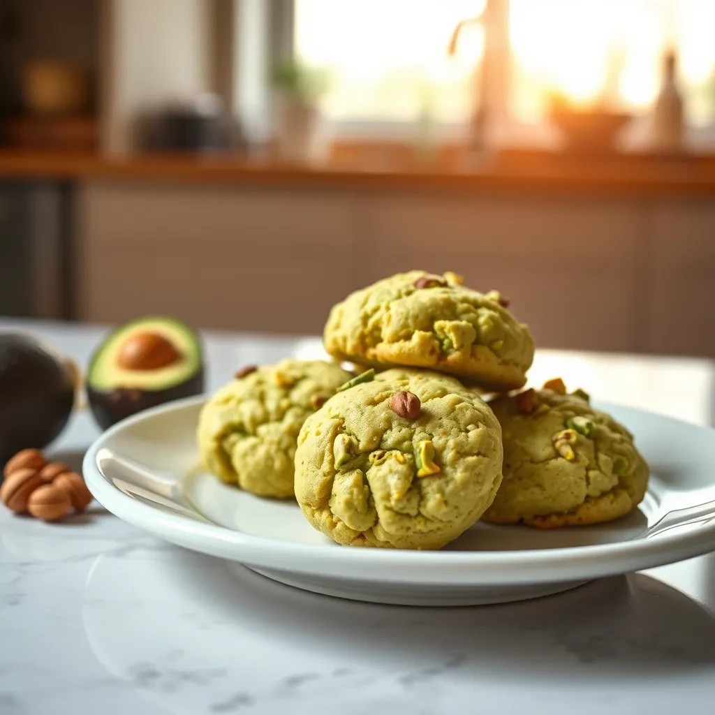
<svg viewBox="0 0 715 715"><path fill-rule="evenodd" d="M396 164L398 166L398 164ZM291 166L265 159L144 155L110 159L96 154L0 150L0 178L192 184L290 184L298 187L466 192L588 194L715 194L715 157L600 157L505 152L474 171L405 163L370 168L363 162Z"/></svg>

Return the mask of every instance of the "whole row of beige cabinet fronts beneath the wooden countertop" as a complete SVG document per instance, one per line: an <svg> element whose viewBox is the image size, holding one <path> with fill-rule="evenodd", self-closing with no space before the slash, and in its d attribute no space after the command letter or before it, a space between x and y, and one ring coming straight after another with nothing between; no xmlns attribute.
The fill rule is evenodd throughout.
<svg viewBox="0 0 715 715"><path fill-rule="evenodd" d="M84 182L77 315L320 332L351 290L413 267L511 298L538 345L714 355L707 199Z"/></svg>

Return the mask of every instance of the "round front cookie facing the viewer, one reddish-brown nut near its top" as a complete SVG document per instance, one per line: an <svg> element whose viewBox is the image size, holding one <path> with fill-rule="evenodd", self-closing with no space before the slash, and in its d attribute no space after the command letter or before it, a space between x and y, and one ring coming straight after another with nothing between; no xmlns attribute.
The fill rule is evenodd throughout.
<svg viewBox="0 0 715 715"><path fill-rule="evenodd" d="M295 496L318 531L350 546L441 548L501 482L501 430L454 378L369 370L300 430Z"/></svg>

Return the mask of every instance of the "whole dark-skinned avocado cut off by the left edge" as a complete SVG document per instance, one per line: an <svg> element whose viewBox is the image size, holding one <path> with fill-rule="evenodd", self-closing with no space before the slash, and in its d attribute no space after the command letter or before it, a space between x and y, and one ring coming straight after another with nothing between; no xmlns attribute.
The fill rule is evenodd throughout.
<svg viewBox="0 0 715 715"><path fill-rule="evenodd" d="M34 337L0 333L0 467L64 429L74 406L72 365Z"/></svg>

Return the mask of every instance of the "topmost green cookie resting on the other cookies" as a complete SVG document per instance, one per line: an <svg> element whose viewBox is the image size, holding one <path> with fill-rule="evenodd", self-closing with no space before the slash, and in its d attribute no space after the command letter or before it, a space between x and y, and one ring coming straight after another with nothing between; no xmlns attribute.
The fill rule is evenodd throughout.
<svg viewBox="0 0 715 715"><path fill-rule="evenodd" d="M400 273L348 295L325 325L325 350L339 360L438 370L487 390L520 388L533 360L526 325L498 292L461 285L454 273Z"/></svg>

